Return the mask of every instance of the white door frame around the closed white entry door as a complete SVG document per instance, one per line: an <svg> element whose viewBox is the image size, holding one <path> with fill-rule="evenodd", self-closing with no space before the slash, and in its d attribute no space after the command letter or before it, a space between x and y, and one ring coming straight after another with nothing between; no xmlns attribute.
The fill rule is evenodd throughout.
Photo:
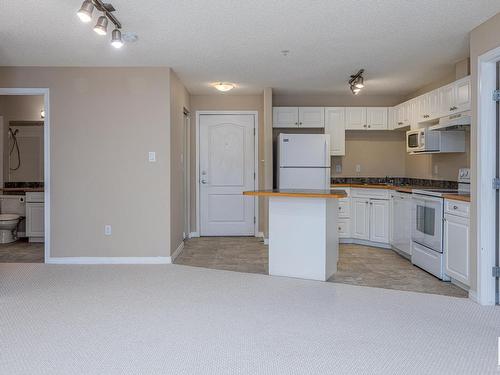
<svg viewBox="0 0 500 375"><path fill-rule="evenodd" d="M191 237L201 233L200 219L200 116L202 115L253 115L254 116L254 189L259 186L259 111L196 111L196 231ZM259 237L259 198L254 198L254 236Z"/></svg>

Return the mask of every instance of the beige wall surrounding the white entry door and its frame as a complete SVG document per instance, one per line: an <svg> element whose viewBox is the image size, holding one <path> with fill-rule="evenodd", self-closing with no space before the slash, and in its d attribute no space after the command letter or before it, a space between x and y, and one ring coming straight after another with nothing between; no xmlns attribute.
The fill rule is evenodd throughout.
<svg viewBox="0 0 500 375"><path fill-rule="evenodd" d="M264 98L262 95L192 95L191 96L191 230L196 227L196 111L258 111L259 114L259 188L264 186ZM259 230L263 230L264 200L259 201Z"/></svg>

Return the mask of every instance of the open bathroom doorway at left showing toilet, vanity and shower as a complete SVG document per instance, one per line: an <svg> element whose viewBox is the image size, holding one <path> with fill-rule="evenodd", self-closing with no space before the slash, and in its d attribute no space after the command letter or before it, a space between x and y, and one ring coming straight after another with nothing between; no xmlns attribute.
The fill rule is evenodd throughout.
<svg viewBox="0 0 500 375"><path fill-rule="evenodd" d="M0 263L48 258L48 89L0 89Z"/></svg>

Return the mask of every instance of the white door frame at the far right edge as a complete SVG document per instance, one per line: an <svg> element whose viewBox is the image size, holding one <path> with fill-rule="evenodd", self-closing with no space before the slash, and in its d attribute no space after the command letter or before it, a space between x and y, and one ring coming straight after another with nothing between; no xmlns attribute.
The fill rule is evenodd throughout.
<svg viewBox="0 0 500 375"><path fill-rule="evenodd" d="M491 270L495 266L496 233L498 223L496 220L497 199L496 190L492 181L496 177L496 102L492 100L492 93L497 85L497 66L500 61L500 47L486 52L478 57L477 81L477 122L475 124L476 137L476 163L472 169L473 197L476 210L472 210L472 220L475 220L476 236L471 239L471 249L476 249L477 254L477 291L476 295L470 294L473 300L481 305L494 305L496 300L496 279L492 277ZM492 158L491 155L496 155ZM473 204L474 207L474 204ZM474 215L475 211L475 215Z"/></svg>

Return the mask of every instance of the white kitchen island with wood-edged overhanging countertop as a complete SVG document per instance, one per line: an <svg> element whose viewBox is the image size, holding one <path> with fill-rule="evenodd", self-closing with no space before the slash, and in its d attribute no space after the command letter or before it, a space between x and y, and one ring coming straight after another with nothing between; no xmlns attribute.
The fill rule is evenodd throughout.
<svg viewBox="0 0 500 375"><path fill-rule="evenodd" d="M269 274L328 280L337 272L338 199L343 190L259 190L269 197Z"/></svg>

